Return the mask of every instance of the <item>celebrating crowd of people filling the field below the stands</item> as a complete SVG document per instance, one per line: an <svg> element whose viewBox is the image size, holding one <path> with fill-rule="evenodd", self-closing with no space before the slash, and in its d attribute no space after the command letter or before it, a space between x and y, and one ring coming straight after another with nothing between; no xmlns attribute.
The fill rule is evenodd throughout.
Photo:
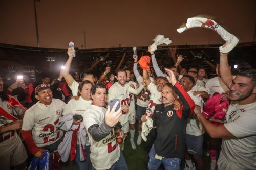
<svg viewBox="0 0 256 170"><path fill-rule="evenodd" d="M203 150L212 170L256 169L256 70L232 75L222 52L211 79L205 68L178 69L182 55L161 70L149 47L149 56L133 55L133 70L106 67L96 80L92 72L71 76L71 52L52 82L24 76L5 89L0 77L1 169L75 160L79 169L125 170L128 134L134 150L146 142L148 169L180 169L182 160L185 169L205 169Z"/></svg>

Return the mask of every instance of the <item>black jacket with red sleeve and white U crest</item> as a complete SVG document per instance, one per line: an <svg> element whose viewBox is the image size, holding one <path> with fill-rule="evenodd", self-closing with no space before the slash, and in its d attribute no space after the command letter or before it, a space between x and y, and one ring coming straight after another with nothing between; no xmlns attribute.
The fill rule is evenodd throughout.
<svg viewBox="0 0 256 170"><path fill-rule="evenodd" d="M177 82L173 90L182 101L181 108L174 110L173 105L156 106L153 125L156 126L157 138L154 148L159 156L166 158L183 158L187 119L193 113L195 104L185 89Z"/></svg>

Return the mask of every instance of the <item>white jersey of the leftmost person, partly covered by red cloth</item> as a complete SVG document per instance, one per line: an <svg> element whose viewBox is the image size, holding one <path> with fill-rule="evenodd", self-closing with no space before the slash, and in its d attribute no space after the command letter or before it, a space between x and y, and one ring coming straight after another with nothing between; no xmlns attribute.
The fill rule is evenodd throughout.
<svg viewBox="0 0 256 170"><path fill-rule="evenodd" d="M0 107L7 113L13 115L13 108L8 101L2 101L0 98ZM1 124L11 123L12 120L2 118ZM3 127L3 126L2 126ZM18 143L20 139L16 131L8 131L0 134L0 156L3 156L13 150L13 147Z"/></svg>

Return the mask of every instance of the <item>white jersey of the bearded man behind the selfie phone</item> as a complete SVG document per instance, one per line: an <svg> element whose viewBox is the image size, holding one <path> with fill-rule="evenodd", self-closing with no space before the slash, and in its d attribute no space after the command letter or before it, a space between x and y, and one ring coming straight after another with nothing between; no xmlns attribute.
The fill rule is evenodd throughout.
<svg viewBox="0 0 256 170"><path fill-rule="evenodd" d="M121 86L118 82L116 82L109 89L108 102L113 99L119 99L120 106L126 105L129 107L129 93L139 94L143 88L144 86L140 86L138 89L135 90L128 84L124 84L124 86ZM123 115L120 118L120 123L121 125L123 125L126 122L128 122L128 115L127 113L123 112Z"/></svg>

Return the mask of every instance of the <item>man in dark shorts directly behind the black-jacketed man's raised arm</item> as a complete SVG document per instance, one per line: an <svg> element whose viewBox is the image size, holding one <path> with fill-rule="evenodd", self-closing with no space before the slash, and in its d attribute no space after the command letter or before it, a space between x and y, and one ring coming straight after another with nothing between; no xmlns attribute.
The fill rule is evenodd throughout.
<svg viewBox="0 0 256 170"><path fill-rule="evenodd" d="M180 84L187 91L188 95L195 103L195 107L203 111L203 100L199 94L195 95L193 91L195 79L190 75L183 75L180 80ZM188 118L185 136L187 147L187 150L184 151L186 161L185 170L196 169L195 164L191 161L188 153L192 155L193 159L196 161L197 169L204 169L204 162L202 159L203 134L204 128L199 122L198 118L195 115L190 116Z"/></svg>

